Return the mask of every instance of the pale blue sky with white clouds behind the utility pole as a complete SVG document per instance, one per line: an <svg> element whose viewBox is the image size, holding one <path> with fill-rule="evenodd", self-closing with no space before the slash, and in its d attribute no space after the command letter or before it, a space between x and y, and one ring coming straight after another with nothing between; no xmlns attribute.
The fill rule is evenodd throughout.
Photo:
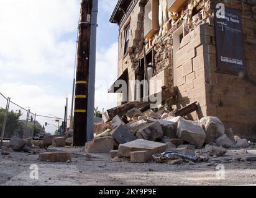
<svg viewBox="0 0 256 198"><path fill-rule="evenodd" d="M109 22L116 3L99 0L95 106L101 111L116 106L117 96L107 93L117 79L118 27ZM68 97L70 116L79 15L80 0L1 0L0 93L32 113L58 118ZM0 107L5 105L0 96ZM55 119L38 120L58 125Z"/></svg>

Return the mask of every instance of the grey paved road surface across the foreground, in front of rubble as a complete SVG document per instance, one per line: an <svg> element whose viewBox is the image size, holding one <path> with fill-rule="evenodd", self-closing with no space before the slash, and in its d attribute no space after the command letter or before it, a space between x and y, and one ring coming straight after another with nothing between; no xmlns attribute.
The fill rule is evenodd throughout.
<svg viewBox="0 0 256 198"><path fill-rule="evenodd" d="M255 152L255 150L254 150ZM75 156L71 163L38 161L39 155L11 152L0 155L0 185L253 185L256 162L217 161L196 165L112 162L108 154L93 155L88 161ZM38 179L34 170L38 167ZM31 169L30 169L31 168ZM217 169L221 168L221 169ZM32 175L32 178L31 178Z"/></svg>

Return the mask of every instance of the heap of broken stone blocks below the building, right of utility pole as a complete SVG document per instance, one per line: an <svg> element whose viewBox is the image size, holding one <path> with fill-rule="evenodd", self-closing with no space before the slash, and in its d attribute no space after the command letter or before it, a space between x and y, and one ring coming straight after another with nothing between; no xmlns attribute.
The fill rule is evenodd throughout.
<svg viewBox="0 0 256 198"><path fill-rule="evenodd" d="M256 148L247 139L234 136L216 117L189 121L172 112L137 108L111 121L94 126L95 139L86 143L91 153L109 152L113 161L145 163L150 160L171 164L208 161L222 157L227 149Z"/></svg>

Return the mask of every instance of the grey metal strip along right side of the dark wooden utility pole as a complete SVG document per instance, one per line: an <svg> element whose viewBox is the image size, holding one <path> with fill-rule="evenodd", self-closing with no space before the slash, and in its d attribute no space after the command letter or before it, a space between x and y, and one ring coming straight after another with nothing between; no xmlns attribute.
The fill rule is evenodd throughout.
<svg viewBox="0 0 256 198"><path fill-rule="evenodd" d="M98 0L93 0L91 11L91 39L89 54L89 90L88 90L88 117L87 141L94 139L94 100L95 100L95 73L96 73L96 38L97 38Z"/></svg>

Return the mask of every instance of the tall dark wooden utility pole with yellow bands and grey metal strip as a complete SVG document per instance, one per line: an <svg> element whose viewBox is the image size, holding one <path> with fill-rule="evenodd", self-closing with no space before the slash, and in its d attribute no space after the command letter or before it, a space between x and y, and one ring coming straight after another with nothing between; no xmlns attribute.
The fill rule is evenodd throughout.
<svg viewBox="0 0 256 198"><path fill-rule="evenodd" d="M73 145L80 147L85 146L88 135L91 136L93 116L91 109L94 109L97 12L98 0L81 0L73 122Z"/></svg>

